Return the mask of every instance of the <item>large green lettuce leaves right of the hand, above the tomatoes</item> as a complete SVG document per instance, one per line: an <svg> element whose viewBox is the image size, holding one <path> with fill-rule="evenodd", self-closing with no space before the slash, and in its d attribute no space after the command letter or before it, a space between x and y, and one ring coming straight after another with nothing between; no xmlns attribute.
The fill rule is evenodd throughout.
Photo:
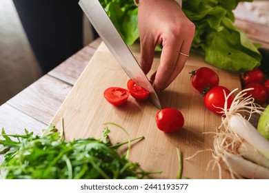
<svg viewBox="0 0 269 193"><path fill-rule="evenodd" d="M218 68L231 71L252 70L261 62L259 45L235 27L232 10L241 0L183 0L182 10L195 23L192 50ZM252 0L247 0L252 1Z"/></svg>

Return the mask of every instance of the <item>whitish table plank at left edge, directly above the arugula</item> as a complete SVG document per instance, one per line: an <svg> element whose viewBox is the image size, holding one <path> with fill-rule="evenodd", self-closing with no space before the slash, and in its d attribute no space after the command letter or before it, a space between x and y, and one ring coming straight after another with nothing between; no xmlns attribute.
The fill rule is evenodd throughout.
<svg viewBox="0 0 269 193"><path fill-rule="evenodd" d="M8 134L23 134L25 128L34 134L41 134L42 129L46 128L46 124L6 103L0 106L0 114L0 128L4 128Z"/></svg>

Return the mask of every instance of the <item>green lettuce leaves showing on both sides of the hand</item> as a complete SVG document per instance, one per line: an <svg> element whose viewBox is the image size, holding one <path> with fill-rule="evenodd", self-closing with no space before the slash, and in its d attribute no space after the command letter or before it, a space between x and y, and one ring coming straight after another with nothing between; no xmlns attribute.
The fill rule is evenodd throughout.
<svg viewBox="0 0 269 193"><path fill-rule="evenodd" d="M243 0L183 0L182 10L195 23L192 51L205 61L234 72L252 70L261 62L260 45L252 43L245 32L234 25L232 10ZM246 0L253 1L253 0ZM100 0L123 40L131 45L139 39L138 8L133 0ZM161 50L158 46L156 50Z"/></svg>

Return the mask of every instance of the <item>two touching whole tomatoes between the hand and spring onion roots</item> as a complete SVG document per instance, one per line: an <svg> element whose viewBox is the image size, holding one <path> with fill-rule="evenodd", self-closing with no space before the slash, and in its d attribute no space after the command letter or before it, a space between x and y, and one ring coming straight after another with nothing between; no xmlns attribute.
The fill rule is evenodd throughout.
<svg viewBox="0 0 269 193"><path fill-rule="evenodd" d="M230 90L219 85L219 76L217 73L210 68L201 67L198 70L190 72L190 74L192 74L192 86L203 94L203 103L206 105L206 108L215 114L223 114L226 96L230 94ZM230 97L227 99L227 109L230 108L234 98L235 96L230 94Z"/></svg>

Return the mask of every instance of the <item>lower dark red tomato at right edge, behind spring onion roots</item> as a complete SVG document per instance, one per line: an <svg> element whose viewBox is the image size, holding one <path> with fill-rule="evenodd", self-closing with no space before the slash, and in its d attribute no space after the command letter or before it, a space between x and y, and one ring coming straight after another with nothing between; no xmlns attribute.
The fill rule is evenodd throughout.
<svg viewBox="0 0 269 193"><path fill-rule="evenodd" d="M247 88L253 88L253 90L247 91L246 96L252 96L255 99L255 102L258 103L259 105L263 105L266 103L267 99L267 92L266 88L259 84L259 83L250 83L245 86L245 89Z"/></svg>

